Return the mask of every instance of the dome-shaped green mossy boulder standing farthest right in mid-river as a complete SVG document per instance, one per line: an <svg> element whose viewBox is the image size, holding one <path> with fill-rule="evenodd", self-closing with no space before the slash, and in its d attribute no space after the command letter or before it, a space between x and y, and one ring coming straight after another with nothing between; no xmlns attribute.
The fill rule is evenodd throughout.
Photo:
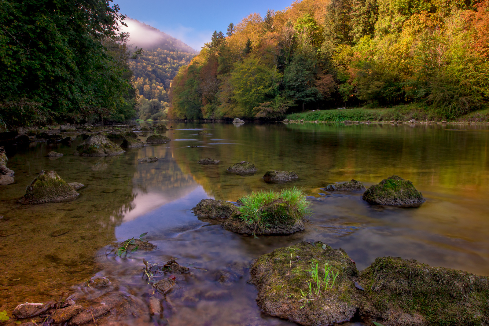
<svg viewBox="0 0 489 326"><path fill-rule="evenodd" d="M371 186L362 196L363 200L377 205L414 205L424 202L422 194L413 183L393 175Z"/></svg>

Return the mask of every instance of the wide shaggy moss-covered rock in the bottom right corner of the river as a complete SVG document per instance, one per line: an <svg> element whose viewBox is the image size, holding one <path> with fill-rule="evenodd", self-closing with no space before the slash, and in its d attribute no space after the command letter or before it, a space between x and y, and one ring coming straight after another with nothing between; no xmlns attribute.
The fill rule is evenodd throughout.
<svg viewBox="0 0 489 326"><path fill-rule="evenodd" d="M379 257L360 273L360 315L383 325L489 325L488 277Z"/></svg>

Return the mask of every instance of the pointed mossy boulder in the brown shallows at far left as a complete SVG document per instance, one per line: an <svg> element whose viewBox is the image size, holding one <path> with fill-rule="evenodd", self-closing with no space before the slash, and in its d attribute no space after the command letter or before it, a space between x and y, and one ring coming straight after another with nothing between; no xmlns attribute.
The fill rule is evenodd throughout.
<svg viewBox="0 0 489 326"><path fill-rule="evenodd" d="M25 189L22 204L42 204L76 198L78 194L54 171L42 171Z"/></svg>

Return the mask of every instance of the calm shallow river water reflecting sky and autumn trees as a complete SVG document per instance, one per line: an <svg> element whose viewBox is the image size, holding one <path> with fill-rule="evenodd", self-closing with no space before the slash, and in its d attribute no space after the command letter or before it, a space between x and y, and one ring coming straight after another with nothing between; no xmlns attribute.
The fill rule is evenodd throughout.
<svg viewBox="0 0 489 326"><path fill-rule="evenodd" d="M0 311L12 311L23 302L53 300L95 273L125 279L133 293L144 296L150 287L141 279L142 258L175 258L197 277L185 281L187 291L195 294L192 298L169 295L169 325L292 325L261 313L256 290L246 283L246 269L243 278L227 284L213 275L233 264L248 266L260 255L303 240L345 249L359 270L378 256L400 256L489 275L485 126L168 125L175 126L165 133L170 143L115 157L72 155L81 139L71 147L31 143L7 149L15 183L0 186ZM201 129L209 134L198 135ZM146 137L140 135L142 140ZM65 156L44 157L51 150ZM160 160L138 163L146 156ZM221 163L197 163L207 157ZM253 162L258 173L226 172L244 160ZM299 179L267 184L261 177L271 169L295 170ZM72 201L18 204L41 170L55 170L67 182L86 187ZM411 180L426 202L418 208L372 206L361 199L361 192L321 190L351 179L368 187L393 174ZM204 198L235 201L252 191L293 186L314 198L311 223L290 236L240 236L201 222L190 211ZM138 251L122 260L111 253L115 241L144 232L156 250Z"/></svg>

